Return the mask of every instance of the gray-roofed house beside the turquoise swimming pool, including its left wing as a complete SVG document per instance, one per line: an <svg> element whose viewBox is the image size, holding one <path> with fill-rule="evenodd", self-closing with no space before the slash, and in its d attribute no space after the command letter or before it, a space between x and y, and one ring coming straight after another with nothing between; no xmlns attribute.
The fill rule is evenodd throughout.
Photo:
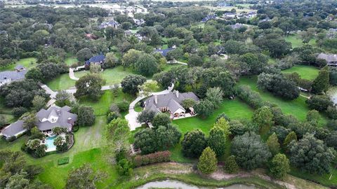
<svg viewBox="0 0 337 189"><path fill-rule="evenodd" d="M69 106L63 106L62 108L59 106L51 106L47 110L41 109L36 115L37 128L45 134L50 134L54 127L63 127L68 131L72 131L72 127L77 121L77 115L70 113L70 109ZM20 134L26 132L23 125L24 121L18 120L4 128L2 135L6 137L6 139L18 137Z"/></svg>

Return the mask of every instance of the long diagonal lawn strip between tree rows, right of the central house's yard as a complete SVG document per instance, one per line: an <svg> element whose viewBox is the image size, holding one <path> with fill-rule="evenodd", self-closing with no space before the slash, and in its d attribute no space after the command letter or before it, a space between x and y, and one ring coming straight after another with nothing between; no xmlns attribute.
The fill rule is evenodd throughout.
<svg viewBox="0 0 337 189"><path fill-rule="evenodd" d="M281 108L282 111L287 115L292 114L293 116L296 116L299 120L305 120L305 117L309 111L307 104L305 104L305 97L298 97L297 99L293 100L286 100L282 99L281 97L275 97L270 92L263 92L261 90L258 90L256 86L256 80L257 76L241 77L239 80L239 85L249 85L252 90L260 93L264 101L269 101L273 104L277 104L277 106L279 106L279 108ZM326 123L326 117L322 114L321 116L322 119L320 123Z"/></svg>

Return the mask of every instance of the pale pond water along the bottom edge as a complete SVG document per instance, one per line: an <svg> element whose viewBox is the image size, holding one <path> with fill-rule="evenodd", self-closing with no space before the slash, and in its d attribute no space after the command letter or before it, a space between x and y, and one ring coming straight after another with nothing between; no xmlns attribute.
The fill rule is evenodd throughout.
<svg viewBox="0 0 337 189"><path fill-rule="evenodd" d="M183 188L183 189L201 189L205 187L198 187L183 183L180 181L165 180L165 181L153 181L146 183L143 186L138 187L137 189L150 189L150 188ZM220 188L219 188L220 189ZM255 189L254 186L246 186L242 184L234 184L232 186L227 186L223 189Z"/></svg>

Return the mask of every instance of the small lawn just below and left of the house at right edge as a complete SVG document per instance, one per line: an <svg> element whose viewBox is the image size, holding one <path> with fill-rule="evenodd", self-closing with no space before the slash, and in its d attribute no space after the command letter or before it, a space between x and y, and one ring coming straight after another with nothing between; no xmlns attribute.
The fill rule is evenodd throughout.
<svg viewBox="0 0 337 189"><path fill-rule="evenodd" d="M293 73L297 72L300 75L300 78L314 80L318 76L319 69L315 66L306 66L306 65L295 65L290 69L285 69L282 73Z"/></svg>

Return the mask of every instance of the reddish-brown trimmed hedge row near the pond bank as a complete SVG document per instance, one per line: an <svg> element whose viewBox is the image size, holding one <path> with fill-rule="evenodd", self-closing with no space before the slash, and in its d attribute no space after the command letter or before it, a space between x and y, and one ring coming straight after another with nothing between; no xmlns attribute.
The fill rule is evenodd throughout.
<svg viewBox="0 0 337 189"><path fill-rule="evenodd" d="M134 159L134 164L136 167L140 167L142 165L149 165L157 162L169 162L170 158L170 151L161 151L147 155L137 155Z"/></svg>

